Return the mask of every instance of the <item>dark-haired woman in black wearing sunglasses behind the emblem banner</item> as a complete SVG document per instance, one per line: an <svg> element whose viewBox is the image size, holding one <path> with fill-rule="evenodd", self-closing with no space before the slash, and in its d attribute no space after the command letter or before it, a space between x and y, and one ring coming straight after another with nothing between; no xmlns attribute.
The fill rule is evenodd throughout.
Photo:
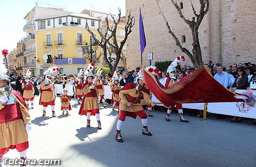
<svg viewBox="0 0 256 167"><path fill-rule="evenodd" d="M248 77L246 75L244 67L238 67L237 73L238 73L238 76L236 77L235 82L230 88L232 92L236 91L236 89L246 90L247 88ZM235 122L235 121L242 122L242 117L237 118L236 116L234 116L234 118L230 122Z"/></svg>

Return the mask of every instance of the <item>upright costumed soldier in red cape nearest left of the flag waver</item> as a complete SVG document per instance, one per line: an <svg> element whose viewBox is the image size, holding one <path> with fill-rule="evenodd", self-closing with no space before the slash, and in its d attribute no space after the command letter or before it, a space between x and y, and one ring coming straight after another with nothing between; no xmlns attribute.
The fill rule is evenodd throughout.
<svg viewBox="0 0 256 167"><path fill-rule="evenodd" d="M87 126L90 127L90 116L96 115L96 119L98 122L98 129L101 129L100 123L100 92L98 91L97 86L92 83L93 81L93 69L94 63L88 64L88 69L85 71L85 77L88 81L88 78L91 77L91 82L87 82L84 84L84 88L82 90L84 94L84 99L82 100L82 104L80 106L79 115L86 115L87 116Z"/></svg>

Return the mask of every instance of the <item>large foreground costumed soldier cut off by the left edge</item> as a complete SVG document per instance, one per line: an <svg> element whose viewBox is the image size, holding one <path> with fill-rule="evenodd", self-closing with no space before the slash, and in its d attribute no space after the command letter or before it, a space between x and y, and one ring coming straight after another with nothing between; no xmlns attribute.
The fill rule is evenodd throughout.
<svg viewBox="0 0 256 167"><path fill-rule="evenodd" d="M0 63L0 167L9 149L16 148L20 159L26 159L28 132L31 130L27 105L20 92L12 89L7 71ZM26 167L26 164L21 164L21 167Z"/></svg>

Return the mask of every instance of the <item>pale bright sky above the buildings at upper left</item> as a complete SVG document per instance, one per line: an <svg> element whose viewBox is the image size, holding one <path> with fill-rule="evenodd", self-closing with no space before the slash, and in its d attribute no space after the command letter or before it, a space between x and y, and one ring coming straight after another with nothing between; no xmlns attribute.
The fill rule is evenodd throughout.
<svg viewBox="0 0 256 167"><path fill-rule="evenodd" d="M125 15L125 0L0 0L0 50L8 49L10 53L16 47L17 41L26 36L26 33L23 32L26 20L23 18L36 6L36 2L38 2L38 6L42 7L48 7L47 4L51 4L49 7L52 8L63 6L68 12L91 9L118 14L119 7L121 16Z"/></svg>

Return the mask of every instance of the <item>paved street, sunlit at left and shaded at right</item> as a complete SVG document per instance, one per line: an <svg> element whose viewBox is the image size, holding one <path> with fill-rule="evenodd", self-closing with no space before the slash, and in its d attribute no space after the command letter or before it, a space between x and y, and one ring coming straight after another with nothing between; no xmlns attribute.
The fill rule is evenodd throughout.
<svg viewBox="0 0 256 167"><path fill-rule="evenodd" d="M92 127L86 128L86 116L78 115L80 105L74 99L72 111L66 116L61 115L58 96L56 118L52 118L50 107L46 109L46 117L42 117L38 101L39 96L34 100L35 108L29 110L32 117L29 159L61 159L59 167L256 166L256 126L252 120L231 123L231 117L216 120L213 116L200 121L185 113L190 122L183 123L178 114L172 113L171 122L166 122L165 113L156 111L152 113L154 117L148 118L153 136L142 135L140 118L126 117L121 131L124 142L118 143L117 112L112 112L110 105L100 109L102 130L98 130L95 116L91 116ZM4 157L15 158L19 154L10 150Z"/></svg>

